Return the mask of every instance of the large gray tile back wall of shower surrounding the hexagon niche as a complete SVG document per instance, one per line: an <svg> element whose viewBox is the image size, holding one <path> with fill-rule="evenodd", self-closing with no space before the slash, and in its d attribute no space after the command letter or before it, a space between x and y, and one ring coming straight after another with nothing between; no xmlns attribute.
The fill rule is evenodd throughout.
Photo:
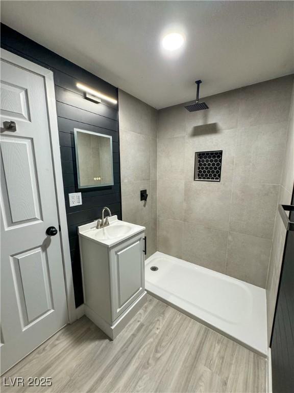
<svg viewBox="0 0 294 393"><path fill-rule="evenodd" d="M159 251L265 288L277 203L293 181L283 170L292 80L207 97L207 111L189 113L184 104L159 111ZM288 138L286 167L293 166ZM195 151L218 149L220 183L193 181Z"/></svg>

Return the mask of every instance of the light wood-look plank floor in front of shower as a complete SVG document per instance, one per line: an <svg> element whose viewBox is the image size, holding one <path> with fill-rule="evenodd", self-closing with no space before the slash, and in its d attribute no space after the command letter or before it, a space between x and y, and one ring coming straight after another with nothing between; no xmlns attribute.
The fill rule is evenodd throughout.
<svg viewBox="0 0 294 393"><path fill-rule="evenodd" d="M52 377L3 392L265 392L266 360L168 305L148 301L114 340L85 316L4 375Z"/></svg>

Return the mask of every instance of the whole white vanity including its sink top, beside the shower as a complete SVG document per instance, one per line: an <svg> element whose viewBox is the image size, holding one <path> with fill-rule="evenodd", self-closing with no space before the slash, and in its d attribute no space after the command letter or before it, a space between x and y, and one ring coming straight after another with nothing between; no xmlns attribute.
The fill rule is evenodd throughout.
<svg viewBox="0 0 294 393"><path fill-rule="evenodd" d="M145 228L115 217L109 221L105 238L96 222L79 227L79 242L85 314L114 339L145 302ZM108 238L122 230L127 233Z"/></svg>

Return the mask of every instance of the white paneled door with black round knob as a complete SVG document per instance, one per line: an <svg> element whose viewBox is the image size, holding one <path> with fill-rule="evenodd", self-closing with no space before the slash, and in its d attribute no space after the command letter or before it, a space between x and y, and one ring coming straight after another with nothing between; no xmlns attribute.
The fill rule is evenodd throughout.
<svg viewBox="0 0 294 393"><path fill-rule="evenodd" d="M68 312L44 77L1 59L0 110L3 373L62 328ZM56 235L46 234L51 226Z"/></svg>

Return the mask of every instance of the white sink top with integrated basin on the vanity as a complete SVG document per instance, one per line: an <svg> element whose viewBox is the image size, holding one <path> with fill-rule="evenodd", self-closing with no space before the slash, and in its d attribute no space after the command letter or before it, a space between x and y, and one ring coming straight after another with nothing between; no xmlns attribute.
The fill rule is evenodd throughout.
<svg viewBox="0 0 294 393"><path fill-rule="evenodd" d="M96 228L97 221L79 226L79 236L91 239L103 246L112 247L145 230L145 227L140 225L118 220L117 215L108 217L108 221L109 226L100 229Z"/></svg>

